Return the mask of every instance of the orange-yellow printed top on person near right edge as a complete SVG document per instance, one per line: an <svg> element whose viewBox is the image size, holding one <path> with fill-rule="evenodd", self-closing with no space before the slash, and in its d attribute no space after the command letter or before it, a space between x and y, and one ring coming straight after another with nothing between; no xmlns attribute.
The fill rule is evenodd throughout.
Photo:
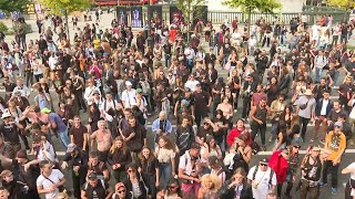
<svg viewBox="0 0 355 199"><path fill-rule="evenodd" d="M334 132L329 132L326 136L325 145L329 151L328 160L334 160L336 157L341 156L341 150L345 149L346 147L346 137L343 133L338 136L334 135ZM338 161L341 161L341 158Z"/></svg>

